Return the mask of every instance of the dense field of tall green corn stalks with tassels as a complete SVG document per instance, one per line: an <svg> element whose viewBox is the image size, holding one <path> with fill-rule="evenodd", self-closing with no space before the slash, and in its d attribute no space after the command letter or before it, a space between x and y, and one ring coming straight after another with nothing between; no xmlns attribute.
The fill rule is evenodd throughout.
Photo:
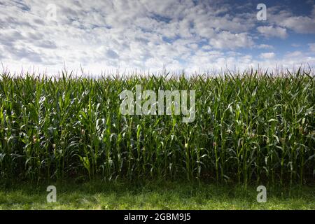
<svg viewBox="0 0 315 224"><path fill-rule="evenodd" d="M311 183L314 76L0 78L1 179ZM195 90L196 117L123 116L123 90Z"/></svg>

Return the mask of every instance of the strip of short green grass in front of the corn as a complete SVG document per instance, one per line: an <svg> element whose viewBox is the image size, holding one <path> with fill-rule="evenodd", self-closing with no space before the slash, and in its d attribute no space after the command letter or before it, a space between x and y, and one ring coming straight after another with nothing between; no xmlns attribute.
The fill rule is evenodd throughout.
<svg viewBox="0 0 315 224"><path fill-rule="evenodd" d="M255 188L186 182L56 184L57 202L46 202L43 185L0 189L0 209L315 209L314 186L267 188L256 202ZM291 189L291 190L289 190Z"/></svg>

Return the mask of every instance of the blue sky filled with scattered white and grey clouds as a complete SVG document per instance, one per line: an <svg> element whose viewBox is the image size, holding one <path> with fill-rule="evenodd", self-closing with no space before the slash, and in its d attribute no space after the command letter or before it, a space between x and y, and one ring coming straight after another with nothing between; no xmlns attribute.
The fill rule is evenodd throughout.
<svg viewBox="0 0 315 224"><path fill-rule="evenodd" d="M313 0L0 0L0 29L11 72L315 68Z"/></svg>

